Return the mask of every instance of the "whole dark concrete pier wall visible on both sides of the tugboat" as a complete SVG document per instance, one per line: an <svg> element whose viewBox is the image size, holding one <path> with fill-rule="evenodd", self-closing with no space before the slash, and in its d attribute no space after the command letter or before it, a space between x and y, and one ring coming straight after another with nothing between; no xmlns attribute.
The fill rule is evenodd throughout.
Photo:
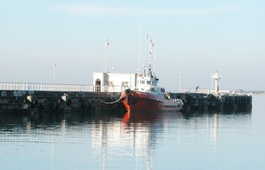
<svg viewBox="0 0 265 170"><path fill-rule="evenodd" d="M0 91L0 112L70 112L70 111L126 111L118 101L120 92L72 91ZM169 99L181 99L183 111L252 108L252 96L204 93L167 93ZM115 102L117 101L117 102ZM114 103L113 103L114 102ZM108 104L110 103L110 104Z"/></svg>

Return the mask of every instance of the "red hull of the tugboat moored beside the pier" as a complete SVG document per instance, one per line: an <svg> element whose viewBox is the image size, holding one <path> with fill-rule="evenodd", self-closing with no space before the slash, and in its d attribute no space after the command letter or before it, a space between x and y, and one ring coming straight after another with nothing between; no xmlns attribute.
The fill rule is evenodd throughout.
<svg viewBox="0 0 265 170"><path fill-rule="evenodd" d="M164 99L160 96L152 95L139 91L132 91L130 95L122 93L122 102L128 112L137 111L178 111L183 103Z"/></svg>

